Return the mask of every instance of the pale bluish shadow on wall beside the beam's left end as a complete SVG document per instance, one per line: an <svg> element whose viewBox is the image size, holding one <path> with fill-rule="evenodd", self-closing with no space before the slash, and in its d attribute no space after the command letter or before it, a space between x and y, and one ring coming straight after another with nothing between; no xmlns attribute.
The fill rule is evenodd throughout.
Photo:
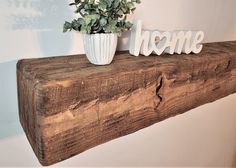
<svg viewBox="0 0 236 168"><path fill-rule="evenodd" d="M22 133L18 118L16 62L0 63L0 139Z"/></svg>

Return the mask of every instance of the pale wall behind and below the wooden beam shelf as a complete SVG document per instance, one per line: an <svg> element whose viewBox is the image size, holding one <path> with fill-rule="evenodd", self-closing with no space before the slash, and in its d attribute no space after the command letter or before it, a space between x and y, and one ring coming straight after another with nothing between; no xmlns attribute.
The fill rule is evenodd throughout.
<svg viewBox="0 0 236 168"><path fill-rule="evenodd" d="M236 0L142 1L130 19L142 19L144 28L199 29L206 34L205 42L236 40ZM62 33L64 21L74 17L67 4L0 1L0 166L38 165L18 122L15 64L22 58L84 52L78 33ZM127 37L119 49L128 48ZM236 165L235 101L232 95L58 165Z"/></svg>

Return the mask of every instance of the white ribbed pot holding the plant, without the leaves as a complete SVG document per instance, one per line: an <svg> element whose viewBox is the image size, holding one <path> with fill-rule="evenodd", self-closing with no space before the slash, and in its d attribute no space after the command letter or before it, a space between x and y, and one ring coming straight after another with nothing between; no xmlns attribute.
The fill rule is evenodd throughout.
<svg viewBox="0 0 236 168"><path fill-rule="evenodd" d="M116 47L117 34L85 34L84 50L88 60L95 65L108 65L112 62Z"/></svg>

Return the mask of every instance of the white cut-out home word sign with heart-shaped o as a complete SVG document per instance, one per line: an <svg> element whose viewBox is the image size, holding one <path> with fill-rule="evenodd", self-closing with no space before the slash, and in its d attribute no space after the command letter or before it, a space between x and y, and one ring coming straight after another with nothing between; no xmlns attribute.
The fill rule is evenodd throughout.
<svg viewBox="0 0 236 168"><path fill-rule="evenodd" d="M131 31L129 52L134 56L149 56L152 53L198 54L203 48L203 39L202 31L142 30L142 22L138 20Z"/></svg>

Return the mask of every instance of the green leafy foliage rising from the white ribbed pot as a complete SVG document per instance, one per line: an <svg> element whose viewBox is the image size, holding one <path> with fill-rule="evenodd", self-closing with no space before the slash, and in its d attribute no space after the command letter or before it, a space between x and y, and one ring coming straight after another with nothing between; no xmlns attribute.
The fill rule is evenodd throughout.
<svg viewBox="0 0 236 168"><path fill-rule="evenodd" d="M83 34L117 33L129 30L132 23L127 15L135 9L140 0L74 0L75 13L81 17L65 22L63 32L75 30Z"/></svg>

